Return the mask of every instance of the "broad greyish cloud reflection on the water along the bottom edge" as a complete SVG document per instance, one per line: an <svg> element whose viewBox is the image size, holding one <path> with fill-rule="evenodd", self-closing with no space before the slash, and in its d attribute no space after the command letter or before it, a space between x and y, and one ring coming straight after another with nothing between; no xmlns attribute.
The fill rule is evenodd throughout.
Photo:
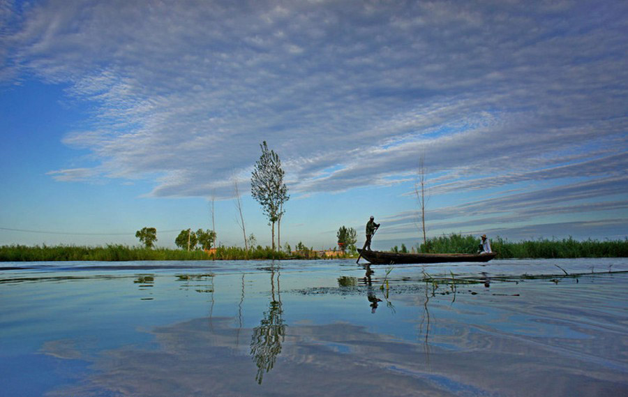
<svg viewBox="0 0 628 397"><path fill-rule="evenodd" d="M454 327L442 342L456 349L434 343L426 351L423 340L399 340L341 322L287 327L285 338L274 345L280 347L273 370L258 384L260 370L269 368L257 368L243 343L253 331L232 324L234 319L221 317L211 328L207 318L158 327L153 331L158 350L126 346L100 354L96 372L82 386L57 395L107 390L138 397L578 396L588 391L600 396L626 390L625 367L605 372L597 363L566 359L560 350L490 329Z"/></svg>

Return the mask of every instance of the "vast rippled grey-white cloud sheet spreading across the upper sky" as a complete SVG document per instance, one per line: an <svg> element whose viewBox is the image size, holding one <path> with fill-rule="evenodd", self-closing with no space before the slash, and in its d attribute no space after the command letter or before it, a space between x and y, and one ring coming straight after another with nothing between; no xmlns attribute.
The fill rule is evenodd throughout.
<svg viewBox="0 0 628 397"><path fill-rule="evenodd" d="M63 142L98 165L50 172L61 181L230 197L267 140L301 195L409 181L420 153L434 194L569 178L595 188L581 197L626 193L626 3L21 7L0 8L17 25L0 33L0 77L19 68L94 109ZM541 200L527 194L467 209Z"/></svg>

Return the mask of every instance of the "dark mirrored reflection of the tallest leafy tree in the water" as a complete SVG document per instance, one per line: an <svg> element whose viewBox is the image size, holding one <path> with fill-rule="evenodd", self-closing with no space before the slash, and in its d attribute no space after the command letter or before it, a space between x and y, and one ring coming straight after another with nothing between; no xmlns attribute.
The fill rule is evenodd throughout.
<svg viewBox="0 0 628 397"><path fill-rule="evenodd" d="M281 308L281 290L279 289L279 272L277 269L277 299L275 297L275 267L271 267L271 302L269 310L258 327L253 328L251 336L251 356L257 365L255 380L262 384L264 373L268 373L281 354L281 343L285 337L283 310Z"/></svg>

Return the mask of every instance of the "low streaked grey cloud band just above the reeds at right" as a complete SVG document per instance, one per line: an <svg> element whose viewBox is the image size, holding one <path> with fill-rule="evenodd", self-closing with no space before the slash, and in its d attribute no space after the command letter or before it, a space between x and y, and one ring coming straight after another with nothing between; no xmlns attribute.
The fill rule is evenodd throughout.
<svg viewBox="0 0 628 397"><path fill-rule="evenodd" d="M628 232L626 223L617 222L618 214L625 214L628 209L627 200L599 201L599 197L625 197L628 177L607 177L584 183L569 183L548 188L525 192L509 192L498 197L482 200L467 200L463 204L429 209L426 211L426 225L431 234L441 232L495 232L506 234L512 238L520 237L522 230L534 231L525 237L538 237L548 224L548 217L572 215L581 219L585 214L597 214L597 218L605 225L613 225L613 234L623 236ZM604 215L601 215L604 214ZM621 215L620 215L621 217ZM419 230L417 211L403 211L384 218L386 230L382 234L416 234ZM560 224L550 222L551 224ZM562 222L565 223L565 222ZM588 224L592 221L578 220L565 225ZM495 227L495 225L500 225ZM484 227L484 229L482 229ZM565 230L559 227L553 230L554 235L563 235ZM593 230L590 230L593 233ZM547 235L545 233L545 235ZM598 235L598 234L589 234ZM608 235L608 234L606 234Z"/></svg>

